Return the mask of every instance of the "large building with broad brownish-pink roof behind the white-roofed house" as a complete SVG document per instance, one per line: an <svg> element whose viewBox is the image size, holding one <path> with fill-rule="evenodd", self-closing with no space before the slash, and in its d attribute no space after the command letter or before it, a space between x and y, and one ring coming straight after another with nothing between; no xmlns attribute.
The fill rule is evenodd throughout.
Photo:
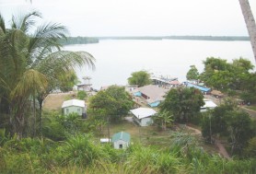
<svg viewBox="0 0 256 174"><path fill-rule="evenodd" d="M150 107L157 107L161 101L164 100L164 96L168 89L157 87L154 85L148 85L145 87L139 87L134 91L134 96L142 97Z"/></svg>

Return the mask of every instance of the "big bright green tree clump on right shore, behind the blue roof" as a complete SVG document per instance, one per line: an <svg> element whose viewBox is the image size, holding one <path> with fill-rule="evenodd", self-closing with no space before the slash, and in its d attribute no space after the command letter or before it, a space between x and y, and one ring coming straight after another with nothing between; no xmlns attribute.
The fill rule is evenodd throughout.
<svg viewBox="0 0 256 174"><path fill-rule="evenodd" d="M229 90L229 93L230 90L243 90L254 94L252 88L255 87L255 73L250 73L252 69L250 61L243 58L227 63L223 59L208 57L204 61L204 72L200 79L209 87Z"/></svg>

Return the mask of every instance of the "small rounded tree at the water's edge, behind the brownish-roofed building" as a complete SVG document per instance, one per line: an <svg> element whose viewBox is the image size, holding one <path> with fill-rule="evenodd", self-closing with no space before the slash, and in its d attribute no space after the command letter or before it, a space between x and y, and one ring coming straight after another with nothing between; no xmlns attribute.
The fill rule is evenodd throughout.
<svg viewBox="0 0 256 174"><path fill-rule="evenodd" d="M137 85L143 87L151 84L150 75L146 71L137 71L132 73L131 77L128 78L130 85Z"/></svg>

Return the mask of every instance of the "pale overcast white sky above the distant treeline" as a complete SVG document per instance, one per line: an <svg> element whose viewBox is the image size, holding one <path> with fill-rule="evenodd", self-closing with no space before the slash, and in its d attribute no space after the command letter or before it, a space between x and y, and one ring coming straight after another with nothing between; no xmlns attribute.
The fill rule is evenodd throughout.
<svg viewBox="0 0 256 174"><path fill-rule="evenodd" d="M71 36L248 36L239 0L0 0L6 22L33 9Z"/></svg>

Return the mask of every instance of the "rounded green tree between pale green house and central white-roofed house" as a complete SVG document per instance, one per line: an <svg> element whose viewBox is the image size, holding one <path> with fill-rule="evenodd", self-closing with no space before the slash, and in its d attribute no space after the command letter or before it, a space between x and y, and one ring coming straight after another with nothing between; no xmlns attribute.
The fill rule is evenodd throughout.
<svg viewBox="0 0 256 174"><path fill-rule="evenodd" d="M106 90L100 90L89 99L88 113L92 116L100 115L102 119L109 118L111 122L119 122L133 105L133 99L124 87L111 86Z"/></svg>

